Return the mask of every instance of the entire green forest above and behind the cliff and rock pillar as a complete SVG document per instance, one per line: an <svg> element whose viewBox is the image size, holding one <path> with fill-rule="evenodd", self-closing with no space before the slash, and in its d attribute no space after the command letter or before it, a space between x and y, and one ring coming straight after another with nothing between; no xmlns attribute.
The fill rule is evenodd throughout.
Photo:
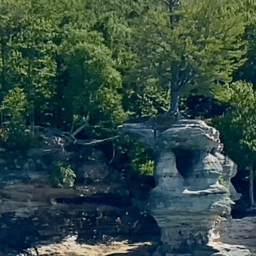
<svg viewBox="0 0 256 256"><path fill-rule="evenodd" d="M36 146L38 126L105 139L179 110L220 130L253 205L255 35L255 0L2 0L1 146ZM152 173L150 152L111 146L114 161Z"/></svg>

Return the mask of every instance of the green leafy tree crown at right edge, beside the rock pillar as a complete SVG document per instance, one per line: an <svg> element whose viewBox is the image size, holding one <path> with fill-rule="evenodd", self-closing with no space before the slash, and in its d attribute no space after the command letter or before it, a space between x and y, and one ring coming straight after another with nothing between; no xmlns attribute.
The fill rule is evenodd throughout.
<svg viewBox="0 0 256 256"><path fill-rule="evenodd" d="M226 89L232 107L213 124L220 130L226 153L241 167L247 166L256 156L256 93L251 84L241 81Z"/></svg>

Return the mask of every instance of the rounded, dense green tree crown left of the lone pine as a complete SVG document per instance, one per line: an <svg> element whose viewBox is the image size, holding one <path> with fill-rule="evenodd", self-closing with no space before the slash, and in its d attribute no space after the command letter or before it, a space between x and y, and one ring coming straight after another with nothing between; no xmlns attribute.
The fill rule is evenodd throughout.
<svg viewBox="0 0 256 256"><path fill-rule="evenodd" d="M73 41L78 44L72 48L73 53L68 55L65 47L70 48ZM121 76L114 69L112 53L102 44L100 35L80 31L61 47L71 75L64 97L73 106L73 113L87 114L100 109L109 114L117 124L126 119L122 110L122 98L116 90L121 86Z"/></svg>

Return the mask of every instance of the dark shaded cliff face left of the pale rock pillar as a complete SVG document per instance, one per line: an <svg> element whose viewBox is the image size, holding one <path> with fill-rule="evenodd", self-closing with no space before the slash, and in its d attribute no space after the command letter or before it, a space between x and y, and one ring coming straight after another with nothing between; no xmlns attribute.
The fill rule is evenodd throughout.
<svg viewBox="0 0 256 256"><path fill-rule="evenodd" d="M87 244L159 240L156 221L132 206L126 180L102 151L70 151L60 137L43 142L22 159L6 152L14 164L0 164L0 255L16 256L70 235ZM47 170L67 159L77 176L75 188L52 188Z"/></svg>

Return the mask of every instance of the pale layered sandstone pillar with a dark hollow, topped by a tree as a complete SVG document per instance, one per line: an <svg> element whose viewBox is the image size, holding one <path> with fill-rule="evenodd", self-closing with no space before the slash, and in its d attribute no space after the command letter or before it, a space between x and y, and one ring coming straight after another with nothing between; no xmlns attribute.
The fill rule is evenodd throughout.
<svg viewBox="0 0 256 256"><path fill-rule="evenodd" d="M213 255L214 242L207 245L210 230L230 215L239 198L230 183L236 166L220 154L219 132L203 121L185 119L162 132L144 124L120 129L156 154L156 187L148 210L161 228L163 245L154 255Z"/></svg>

